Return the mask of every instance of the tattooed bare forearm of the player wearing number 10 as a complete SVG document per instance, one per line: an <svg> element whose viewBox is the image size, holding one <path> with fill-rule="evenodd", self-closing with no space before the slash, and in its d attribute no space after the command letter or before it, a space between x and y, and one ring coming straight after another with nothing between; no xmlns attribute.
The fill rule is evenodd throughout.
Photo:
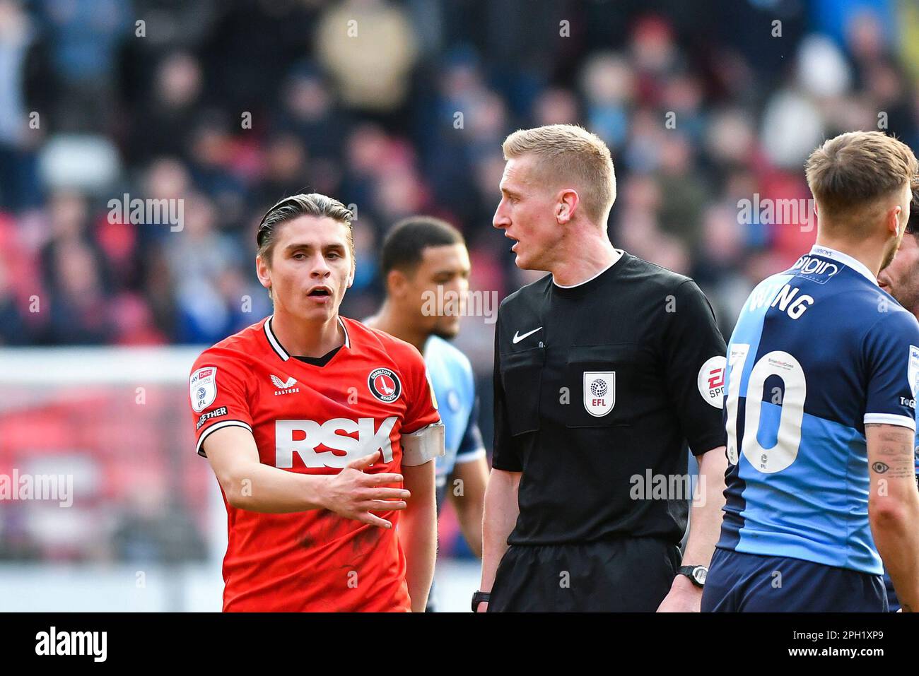
<svg viewBox="0 0 919 676"><path fill-rule="evenodd" d="M891 574L904 613L919 611L919 490L913 465L913 431L866 424L868 519L880 558Z"/></svg>

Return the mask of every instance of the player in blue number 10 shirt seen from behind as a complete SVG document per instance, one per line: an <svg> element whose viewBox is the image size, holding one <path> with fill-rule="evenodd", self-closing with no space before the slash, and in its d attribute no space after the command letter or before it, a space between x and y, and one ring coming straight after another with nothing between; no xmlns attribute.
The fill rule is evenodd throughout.
<svg viewBox="0 0 919 676"><path fill-rule="evenodd" d="M850 132L811 153L817 242L767 277L728 345L727 499L703 611L919 609L919 323L878 285L917 163Z"/></svg>

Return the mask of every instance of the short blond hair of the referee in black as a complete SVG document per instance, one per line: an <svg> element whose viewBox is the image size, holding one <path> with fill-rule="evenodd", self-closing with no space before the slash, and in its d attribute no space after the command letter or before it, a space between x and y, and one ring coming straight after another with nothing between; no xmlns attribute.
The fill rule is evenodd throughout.
<svg viewBox="0 0 919 676"><path fill-rule="evenodd" d="M501 146L505 160L538 158L537 171L550 185L573 181L587 218L605 226L616 201L616 173L607 144L573 124L516 130Z"/></svg>

